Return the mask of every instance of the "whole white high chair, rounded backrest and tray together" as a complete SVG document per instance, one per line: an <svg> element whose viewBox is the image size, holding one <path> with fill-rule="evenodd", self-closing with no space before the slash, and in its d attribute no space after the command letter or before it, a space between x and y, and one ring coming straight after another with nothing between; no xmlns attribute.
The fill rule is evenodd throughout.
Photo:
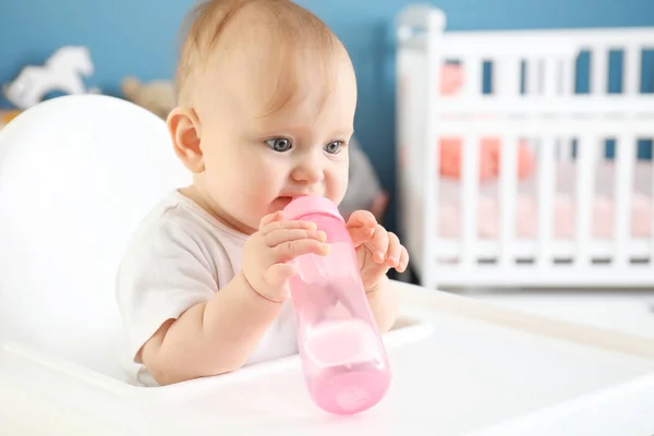
<svg viewBox="0 0 654 436"><path fill-rule="evenodd" d="M113 274L132 230L190 181L165 123L87 95L0 132L2 434L650 434L654 342L396 283L393 383L326 416L296 356L161 388L125 383Z"/></svg>

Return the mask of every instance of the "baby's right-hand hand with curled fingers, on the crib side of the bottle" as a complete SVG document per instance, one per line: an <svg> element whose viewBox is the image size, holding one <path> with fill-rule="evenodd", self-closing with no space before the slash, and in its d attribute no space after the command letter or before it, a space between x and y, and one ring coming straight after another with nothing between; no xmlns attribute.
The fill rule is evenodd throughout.
<svg viewBox="0 0 654 436"><path fill-rule="evenodd" d="M366 292L377 288L388 269L403 272L409 264L407 249L398 237L377 223L367 210L356 210L348 220L348 231L356 247L361 280Z"/></svg>

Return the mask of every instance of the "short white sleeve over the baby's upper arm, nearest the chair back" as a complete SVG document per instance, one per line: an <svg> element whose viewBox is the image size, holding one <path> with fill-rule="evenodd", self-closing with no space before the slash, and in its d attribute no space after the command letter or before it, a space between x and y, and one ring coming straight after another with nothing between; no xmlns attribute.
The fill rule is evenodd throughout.
<svg viewBox="0 0 654 436"><path fill-rule="evenodd" d="M117 276L117 299L131 359L168 319L218 291L209 259L179 225L156 222L130 244Z"/></svg>

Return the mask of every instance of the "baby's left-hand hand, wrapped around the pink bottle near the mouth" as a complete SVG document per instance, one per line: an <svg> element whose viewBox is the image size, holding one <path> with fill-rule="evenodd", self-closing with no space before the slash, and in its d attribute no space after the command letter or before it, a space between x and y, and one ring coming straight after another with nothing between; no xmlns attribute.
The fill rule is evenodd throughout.
<svg viewBox="0 0 654 436"><path fill-rule="evenodd" d="M310 221L286 221L283 213L265 216L243 247L243 274L263 298L281 303L289 298L288 280L298 272L290 261L303 254L327 254L327 235Z"/></svg>

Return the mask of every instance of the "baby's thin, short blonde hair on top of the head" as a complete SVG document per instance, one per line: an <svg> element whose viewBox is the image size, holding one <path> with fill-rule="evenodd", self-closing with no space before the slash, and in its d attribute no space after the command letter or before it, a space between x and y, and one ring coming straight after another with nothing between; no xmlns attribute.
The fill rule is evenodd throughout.
<svg viewBox="0 0 654 436"><path fill-rule="evenodd" d="M325 56L331 56L335 48L342 45L312 12L290 0L207 0L191 11L182 28L187 27L187 31L175 73L178 100L189 98L187 85L193 73L206 66L230 23L246 9L263 12L270 24L270 38L277 38L272 39L275 55L279 56L279 62L275 63L280 71L277 86L271 89L274 95L267 106L268 113L283 107L296 92L293 62L310 62L307 57L318 56L322 61L314 62L314 68L329 74L332 62L326 62Z"/></svg>

